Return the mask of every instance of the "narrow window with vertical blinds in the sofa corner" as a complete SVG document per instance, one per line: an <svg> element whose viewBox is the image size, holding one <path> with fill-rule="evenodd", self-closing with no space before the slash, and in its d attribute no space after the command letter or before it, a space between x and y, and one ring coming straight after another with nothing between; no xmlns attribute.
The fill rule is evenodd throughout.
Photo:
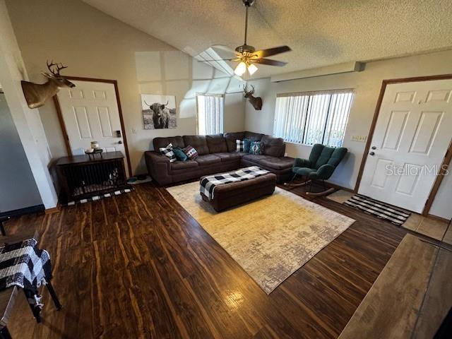
<svg viewBox="0 0 452 339"><path fill-rule="evenodd" d="M198 134L223 133L223 101L222 95L197 95Z"/></svg>

